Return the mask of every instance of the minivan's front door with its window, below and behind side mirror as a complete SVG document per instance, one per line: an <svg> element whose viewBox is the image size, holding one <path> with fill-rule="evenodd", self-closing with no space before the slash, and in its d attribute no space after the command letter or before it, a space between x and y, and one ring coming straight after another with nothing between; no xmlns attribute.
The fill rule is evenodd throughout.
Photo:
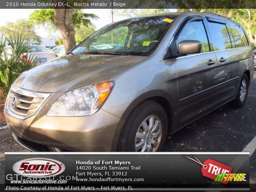
<svg viewBox="0 0 256 192"><path fill-rule="evenodd" d="M211 50L211 40L206 34L203 20L187 22L175 37L176 45L184 40L198 40L202 43L199 54L176 58L178 76L178 118L179 127L214 109L218 86L218 63Z"/></svg>

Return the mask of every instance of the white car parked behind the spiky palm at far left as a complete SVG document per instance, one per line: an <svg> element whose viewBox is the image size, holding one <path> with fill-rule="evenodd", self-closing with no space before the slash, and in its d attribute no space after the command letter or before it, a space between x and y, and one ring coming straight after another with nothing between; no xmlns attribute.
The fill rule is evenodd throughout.
<svg viewBox="0 0 256 192"><path fill-rule="evenodd" d="M8 54L8 58L10 58L10 56L12 55L11 46L6 46L5 48ZM32 45L29 52L22 54L20 59L22 60L24 58L26 60L27 58L31 58L31 56L33 56L33 58L38 58L40 64L58 57L54 52L50 51L45 46Z"/></svg>

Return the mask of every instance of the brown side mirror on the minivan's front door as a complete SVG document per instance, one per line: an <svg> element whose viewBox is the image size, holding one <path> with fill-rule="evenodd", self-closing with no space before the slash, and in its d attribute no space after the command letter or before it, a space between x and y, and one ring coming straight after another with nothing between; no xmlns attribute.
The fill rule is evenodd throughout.
<svg viewBox="0 0 256 192"><path fill-rule="evenodd" d="M185 40L178 44L178 53L182 55L200 53L202 43L196 40Z"/></svg>

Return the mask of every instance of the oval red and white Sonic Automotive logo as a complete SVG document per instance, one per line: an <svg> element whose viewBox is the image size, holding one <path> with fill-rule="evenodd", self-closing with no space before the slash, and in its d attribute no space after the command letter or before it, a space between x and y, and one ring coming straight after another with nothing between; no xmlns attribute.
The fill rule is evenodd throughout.
<svg viewBox="0 0 256 192"><path fill-rule="evenodd" d="M16 162L12 169L23 176L56 176L65 170L65 165L49 158L30 158Z"/></svg>

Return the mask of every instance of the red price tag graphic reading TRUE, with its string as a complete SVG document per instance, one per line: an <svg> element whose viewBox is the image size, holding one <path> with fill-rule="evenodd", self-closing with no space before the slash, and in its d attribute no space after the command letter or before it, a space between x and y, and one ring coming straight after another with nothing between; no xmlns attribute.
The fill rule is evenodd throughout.
<svg viewBox="0 0 256 192"><path fill-rule="evenodd" d="M187 156L186 156L186 158L193 160L194 162L200 164L202 166L202 168L201 168L202 175L205 177L208 177L210 179L213 179L213 180L215 180L216 176L219 173L231 173L233 170L232 167L225 165L223 163L220 163L218 161L214 161L212 159L207 159L202 163L196 157L194 157L196 160L192 159L190 157L187 157ZM227 184L228 182L221 181L221 183Z"/></svg>

